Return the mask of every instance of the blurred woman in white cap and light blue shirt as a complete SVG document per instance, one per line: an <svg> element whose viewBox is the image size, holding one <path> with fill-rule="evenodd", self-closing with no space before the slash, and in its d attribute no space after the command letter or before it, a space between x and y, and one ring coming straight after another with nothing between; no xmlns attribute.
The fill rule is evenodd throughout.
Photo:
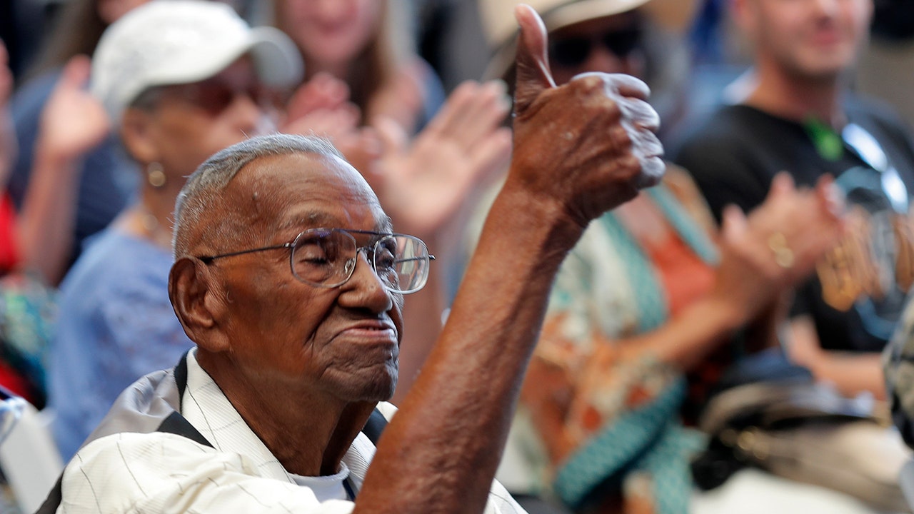
<svg viewBox="0 0 914 514"><path fill-rule="evenodd" d="M301 76L292 41L218 3L152 2L101 38L90 90L143 179L61 285L48 392L65 458L125 386L191 347L167 292L175 196L207 156L274 130Z"/></svg>

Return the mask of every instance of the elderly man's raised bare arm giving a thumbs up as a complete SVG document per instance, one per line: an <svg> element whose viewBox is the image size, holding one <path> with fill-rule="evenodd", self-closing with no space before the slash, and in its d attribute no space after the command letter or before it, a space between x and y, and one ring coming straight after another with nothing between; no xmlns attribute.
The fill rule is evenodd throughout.
<svg viewBox="0 0 914 514"><path fill-rule="evenodd" d="M590 220L662 174L643 83L600 74L556 88L545 27L529 7L517 14L511 170L356 511L484 509L558 265Z"/></svg>

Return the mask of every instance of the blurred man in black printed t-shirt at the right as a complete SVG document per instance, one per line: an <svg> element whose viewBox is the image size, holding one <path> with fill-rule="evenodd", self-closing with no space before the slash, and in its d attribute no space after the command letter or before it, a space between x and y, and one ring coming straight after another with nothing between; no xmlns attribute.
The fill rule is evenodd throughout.
<svg viewBox="0 0 914 514"><path fill-rule="evenodd" d="M898 320L914 263L914 145L893 112L848 91L872 2L734 0L732 7L754 45L754 69L739 104L689 134L674 160L718 217L727 204L759 205L781 170L799 185L831 174L845 188L847 236L797 292L788 349L842 391L881 396L877 352Z"/></svg>

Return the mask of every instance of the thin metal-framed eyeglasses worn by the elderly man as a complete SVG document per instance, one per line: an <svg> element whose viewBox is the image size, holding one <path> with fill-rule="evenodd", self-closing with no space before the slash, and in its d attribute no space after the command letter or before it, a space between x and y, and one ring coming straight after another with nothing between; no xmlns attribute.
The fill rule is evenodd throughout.
<svg viewBox="0 0 914 514"><path fill-rule="evenodd" d="M356 244L355 235L374 236L365 246ZM292 275L305 284L317 287L338 287L356 271L358 252L365 251L381 283L392 293L409 294L419 291L429 279L429 263L435 259L417 237L406 234L373 232L370 230L309 229L295 236L292 242L265 246L253 250L197 257L204 263L216 259L288 248Z"/></svg>

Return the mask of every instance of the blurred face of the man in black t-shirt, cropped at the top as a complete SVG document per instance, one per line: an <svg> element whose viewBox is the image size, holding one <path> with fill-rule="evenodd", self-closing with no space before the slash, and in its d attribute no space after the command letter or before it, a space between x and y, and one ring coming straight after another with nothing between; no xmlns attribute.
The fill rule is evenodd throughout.
<svg viewBox="0 0 914 514"><path fill-rule="evenodd" d="M832 80L866 41L871 0L736 0L759 59L804 79Z"/></svg>

